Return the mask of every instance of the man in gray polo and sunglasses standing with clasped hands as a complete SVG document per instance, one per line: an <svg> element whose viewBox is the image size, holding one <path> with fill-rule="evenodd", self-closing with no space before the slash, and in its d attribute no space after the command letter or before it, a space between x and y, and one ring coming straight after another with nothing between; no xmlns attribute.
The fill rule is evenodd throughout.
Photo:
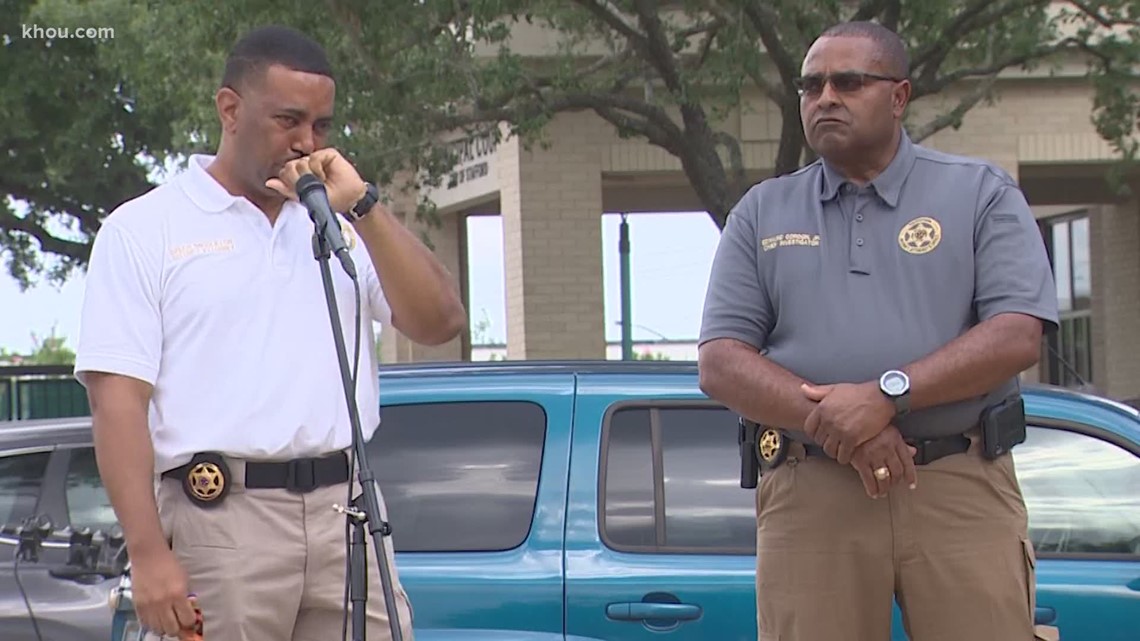
<svg viewBox="0 0 1140 641"><path fill-rule="evenodd" d="M769 429L762 640L882 641L895 595L912 641L1033 638L1025 505L983 419L1012 399L993 415L1018 422L1052 273L1005 172L903 131L907 68L883 27L825 32L799 80L821 160L749 190L712 263L701 389Z"/></svg>

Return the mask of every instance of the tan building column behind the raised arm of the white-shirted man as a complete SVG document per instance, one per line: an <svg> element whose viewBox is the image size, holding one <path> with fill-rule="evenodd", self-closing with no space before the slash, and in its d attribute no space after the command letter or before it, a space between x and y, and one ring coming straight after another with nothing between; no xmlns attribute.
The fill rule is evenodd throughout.
<svg viewBox="0 0 1140 641"><path fill-rule="evenodd" d="M402 204L402 206L401 206ZM440 227L430 227L415 219L415 204L407 202L393 205L393 214L413 234L426 236L435 257L459 285L464 309L469 307L466 295L466 221L456 213L440 214ZM470 330L464 327L458 336L439 346L423 346L413 342L396 327L384 327L380 336L381 363L416 363L441 360L466 360L471 354Z"/></svg>

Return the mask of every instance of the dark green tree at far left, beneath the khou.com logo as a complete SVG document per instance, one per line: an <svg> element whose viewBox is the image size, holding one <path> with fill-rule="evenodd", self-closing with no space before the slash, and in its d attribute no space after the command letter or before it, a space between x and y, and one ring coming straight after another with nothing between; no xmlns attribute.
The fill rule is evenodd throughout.
<svg viewBox="0 0 1140 641"><path fill-rule="evenodd" d="M107 63L113 40L25 36L25 25L114 26L49 8L0 0L0 255L23 287L83 267L101 219L152 186L171 141L162 109L139 108Z"/></svg>

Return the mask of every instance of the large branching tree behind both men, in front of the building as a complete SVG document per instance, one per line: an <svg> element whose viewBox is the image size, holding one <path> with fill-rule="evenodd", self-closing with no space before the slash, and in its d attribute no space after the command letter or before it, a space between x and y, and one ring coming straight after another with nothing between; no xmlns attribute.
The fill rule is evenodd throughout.
<svg viewBox="0 0 1140 641"><path fill-rule="evenodd" d="M495 138L498 123L507 122L514 133L538 141L555 113L592 111L622 136L676 156L723 225L747 188L740 143L720 128L724 116L740 107L746 89L758 89L783 115L775 171L809 160L793 80L815 34L847 18L877 19L905 35L915 100L978 81L934 120L910 123L919 140L960 124L991 96L1002 71L1078 55L1097 89L1098 128L1122 155L1135 153L1131 136L1140 103L1125 82L1140 50L1135 0L421 0L382 11L349 0L326 6L328 19L314 35L331 49L344 89L348 133L337 144L384 181L405 169L427 185L446 180L456 148L438 139L440 131ZM246 29L312 23L311 5L299 1L164 5L138 15L152 34L141 41L145 54L130 57L146 65L140 80L177 68L180 81L202 82L190 92L201 97L214 87L226 48ZM1106 25L1117 31L1093 38ZM535 57L513 47L523 41L513 35L527 29L549 30L559 39ZM179 121L182 128L214 140L210 100L182 104L197 108Z"/></svg>

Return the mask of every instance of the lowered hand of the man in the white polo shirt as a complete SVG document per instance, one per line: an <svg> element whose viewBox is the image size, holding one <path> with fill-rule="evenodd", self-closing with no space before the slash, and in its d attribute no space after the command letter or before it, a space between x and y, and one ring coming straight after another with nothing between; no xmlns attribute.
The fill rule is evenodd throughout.
<svg viewBox="0 0 1140 641"><path fill-rule="evenodd" d="M131 559L131 598L139 623L147 630L178 636L193 630L194 605L187 595L186 570L169 547Z"/></svg>

